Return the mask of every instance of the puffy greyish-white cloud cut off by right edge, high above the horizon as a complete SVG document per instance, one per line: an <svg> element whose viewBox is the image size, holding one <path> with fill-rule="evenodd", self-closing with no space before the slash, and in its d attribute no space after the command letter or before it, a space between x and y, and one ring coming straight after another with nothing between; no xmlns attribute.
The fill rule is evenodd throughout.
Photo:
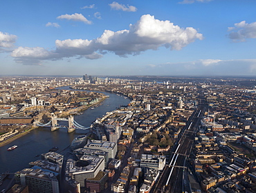
<svg viewBox="0 0 256 193"><path fill-rule="evenodd" d="M256 38L256 22L246 23L246 21L241 21L240 23L235 23L235 27L229 27L228 37L232 41L246 41L248 38Z"/></svg>

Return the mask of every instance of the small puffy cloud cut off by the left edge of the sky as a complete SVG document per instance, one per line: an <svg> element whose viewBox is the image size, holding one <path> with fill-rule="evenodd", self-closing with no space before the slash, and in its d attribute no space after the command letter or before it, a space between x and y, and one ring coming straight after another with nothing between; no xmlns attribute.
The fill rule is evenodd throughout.
<svg viewBox="0 0 256 193"><path fill-rule="evenodd" d="M0 52L8 52L8 49L14 47L17 36L0 32Z"/></svg>

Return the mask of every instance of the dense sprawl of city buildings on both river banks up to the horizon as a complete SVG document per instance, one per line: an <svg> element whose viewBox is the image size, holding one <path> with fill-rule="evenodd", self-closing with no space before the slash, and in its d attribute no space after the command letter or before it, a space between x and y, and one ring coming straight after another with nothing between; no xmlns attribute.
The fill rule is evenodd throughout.
<svg viewBox="0 0 256 193"><path fill-rule="evenodd" d="M78 137L65 165L64 156L56 152L42 154L42 160L30 163L31 169L16 172L17 183L28 185L31 192L58 192L65 169L64 185L70 192L150 192L170 164L170 150L184 127L185 134L192 133L192 125L186 124L193 115L200 121L187 159L190 167L176 165L188 174L192 192L255 192L255 80L156 79L162 78L85 74L71 79L1 80L0 124L20 125L1 135L1 141L18 134L21 124L47 119L44 114L97 108L98 101L107 97L82 90L107 90L130 99L128 105L95 120L90 137L101 140L78 144L87 136ZM54 90L62 85L75 90ZM204 99L205 111L193 114Z"/></svg>

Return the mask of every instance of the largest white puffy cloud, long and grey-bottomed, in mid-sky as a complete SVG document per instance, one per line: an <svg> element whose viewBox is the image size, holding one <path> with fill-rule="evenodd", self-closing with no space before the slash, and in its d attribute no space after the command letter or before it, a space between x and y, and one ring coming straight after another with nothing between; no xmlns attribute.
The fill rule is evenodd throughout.
<svg viewBox="0 0 256 193"><path fill-rule="evenodd" d="M160 21L154 16L145 14L134 25L129 25L129 30L113 32L105 30L97 39L66 39L56 40L56 50L44 48L18 48L12 52L12 57L22 59L62 59L64 57L77 57L86 59L99 59L102 54L113 52L120 57L129 54L136 55L146 50L157 50L160 47L170 50L181 48L203 39L203 35L194 28L181 28L170 21ZM42 52L39 53L37 51ZM26 61L27 62L27 61Z"/></svg>

